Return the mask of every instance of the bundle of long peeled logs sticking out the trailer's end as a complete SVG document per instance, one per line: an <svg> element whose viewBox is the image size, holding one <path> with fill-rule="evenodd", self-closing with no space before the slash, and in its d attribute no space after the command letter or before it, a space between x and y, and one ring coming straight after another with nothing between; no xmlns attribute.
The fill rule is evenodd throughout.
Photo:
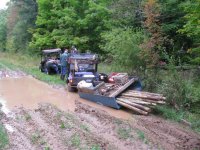
<svg viewBox="0 0 200 150"><path fill-rule="evenodd" d="M128 90L117 97L117 103L139 114L148 115L151 106L165 104L166 98L162 94Z"/></svg>

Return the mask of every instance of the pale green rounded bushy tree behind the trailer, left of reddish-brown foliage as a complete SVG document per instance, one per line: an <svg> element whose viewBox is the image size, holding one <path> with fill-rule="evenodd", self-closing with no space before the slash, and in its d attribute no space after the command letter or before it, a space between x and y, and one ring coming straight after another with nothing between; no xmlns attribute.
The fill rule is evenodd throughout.
<svg viewBox="0 0 200 150"><path fill-rule="evenodd" d="M132 72L143 66L143 60L140 59L140 45L146 36L140 30L113 29L102 35L105 45L102 48L107 51L108 59L112 59L112 64L118 71Z"/></svg>

